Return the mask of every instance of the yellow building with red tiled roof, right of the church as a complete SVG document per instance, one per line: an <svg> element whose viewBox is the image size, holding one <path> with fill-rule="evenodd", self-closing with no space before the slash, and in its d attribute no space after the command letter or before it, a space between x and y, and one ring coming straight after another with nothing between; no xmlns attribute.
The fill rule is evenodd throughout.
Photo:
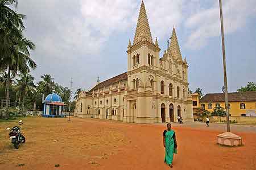
<svg viewBox="0 0 256 170"><path fill-rule="evenodd" d="M194 95L193 103L194 101L196 101L196 95ZM236 117L256 117L256 92L228 93L228 101L230 109L229 115ZM214 107L225 108L225 96L223 93L206 94L200 99L198 106L210 112L213 111Z"/></svg>

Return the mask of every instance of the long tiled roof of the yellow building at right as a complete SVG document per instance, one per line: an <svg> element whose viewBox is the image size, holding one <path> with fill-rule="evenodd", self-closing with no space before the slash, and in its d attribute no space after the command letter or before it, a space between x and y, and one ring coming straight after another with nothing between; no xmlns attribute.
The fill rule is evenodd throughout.
<svg viewBox="0 0 256 170"><path fill-rule="evenodd" d="M224 93L209 93L200 99L200 102L224 102ZM228 93L229 102L256 101L256 92L234 92Z"/></svg>

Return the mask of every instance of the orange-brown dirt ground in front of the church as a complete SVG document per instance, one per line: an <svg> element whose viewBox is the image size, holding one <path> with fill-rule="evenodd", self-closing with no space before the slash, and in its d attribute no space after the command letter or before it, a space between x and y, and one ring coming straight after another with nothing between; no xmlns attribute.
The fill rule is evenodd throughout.
<svg viewBox="0 0 256 170"><path fill-rule="evenodd" d="M171 169L163 162L163 124L24 118L27 142L15 150L6 128L16 122L0 122L0 169ZM236 132L245 146L222 147L216 144L218 126L174 125L178 154L172 169L256 169L256 131Z"/></svg>

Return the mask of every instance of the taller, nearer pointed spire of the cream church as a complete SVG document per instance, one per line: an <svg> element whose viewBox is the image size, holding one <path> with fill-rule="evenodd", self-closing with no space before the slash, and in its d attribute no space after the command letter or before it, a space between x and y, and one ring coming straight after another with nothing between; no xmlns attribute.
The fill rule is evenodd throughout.
<svg viewBox="0 0 256 170"><path fill-rule="evenodd" d="M139 10L139 18L137 22L133 44L140 42L142 39L146 39L148 42L153 44L150 26L147 20L147 13L143 1L141 3L141 10Z"/></svg>

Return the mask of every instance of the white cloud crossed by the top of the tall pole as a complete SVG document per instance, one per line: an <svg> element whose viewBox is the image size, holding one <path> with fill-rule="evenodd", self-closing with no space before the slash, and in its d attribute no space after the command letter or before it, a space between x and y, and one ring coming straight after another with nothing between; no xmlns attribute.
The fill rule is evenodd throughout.
<svg viewBox="0 0 256 170"><path fill-rule="evenodd" d="M230 34L245 27L247 18L256 14L256 1L226 0L223 1L224 32ZM207 45L208 38L220 36L220 10L216 1L209 9L201 9L191 15L185 22L185 27L192 30L188 37L187 47L199 49Z"/></svg>

